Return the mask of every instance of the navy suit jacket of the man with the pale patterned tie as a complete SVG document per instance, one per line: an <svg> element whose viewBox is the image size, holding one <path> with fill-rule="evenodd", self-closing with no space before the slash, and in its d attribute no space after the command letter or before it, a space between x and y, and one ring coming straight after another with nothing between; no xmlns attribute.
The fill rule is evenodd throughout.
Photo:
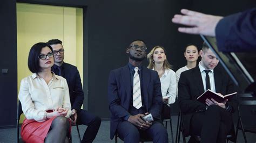
<svg viewBox="0 0 256 143"><path fill-rule="evenodd" d="M142 76L146 112L150 112L155 119L160 119L163 101L157 71L142 67ZM123 117L130 115L129 106L132 95L128 65L110 71L107 94L111 112L110 138L113 139L118 123L123 121Z"/></svg>

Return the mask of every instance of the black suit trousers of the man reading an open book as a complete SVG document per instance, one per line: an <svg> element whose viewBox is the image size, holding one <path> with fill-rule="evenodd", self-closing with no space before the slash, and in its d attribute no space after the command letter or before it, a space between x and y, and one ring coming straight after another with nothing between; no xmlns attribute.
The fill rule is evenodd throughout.
<svg viewBox="0 0 256 143"><path fill-rule="evenodd" d="M190 135L199 135L201 143L226 142L226 135L233 125L232 115L218 105L206 111L195 112L190 122Z"/></svg>

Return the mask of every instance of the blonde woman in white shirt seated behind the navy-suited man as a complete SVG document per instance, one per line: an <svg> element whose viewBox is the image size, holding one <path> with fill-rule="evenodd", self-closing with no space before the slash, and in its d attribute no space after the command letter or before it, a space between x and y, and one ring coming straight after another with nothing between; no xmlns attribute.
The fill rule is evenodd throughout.
<svg viewBox="0 0 256 143"><path fill-rule="evenodd" d="M163 102L166 104L174 103L177 82L175 72L171 69L171 65L166 59L165 48L162 46L154 47L147 54L147 60L149 60L149 66L147 68L156 70L159 75Z"/></svg>

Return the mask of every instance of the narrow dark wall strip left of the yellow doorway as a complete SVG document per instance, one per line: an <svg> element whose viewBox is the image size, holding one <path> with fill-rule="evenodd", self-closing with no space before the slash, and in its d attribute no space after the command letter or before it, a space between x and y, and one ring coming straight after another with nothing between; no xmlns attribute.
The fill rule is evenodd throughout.
<svg viewBox="0 0 256 143"><path fill-rule="evenodd" d="M9 126L15 124L17 109L16 1L1 1L0 19L0 126Z"/></svg>

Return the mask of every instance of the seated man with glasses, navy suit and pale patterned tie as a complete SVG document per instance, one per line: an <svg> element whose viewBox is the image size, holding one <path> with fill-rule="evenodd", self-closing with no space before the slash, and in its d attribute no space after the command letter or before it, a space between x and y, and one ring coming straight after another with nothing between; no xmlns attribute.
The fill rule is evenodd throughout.
<svg viewBox="0 0 256 143"><path fill-rule="evenodd" d="M142 66L146 45L134 40L126 49L129 62L110 71L108 83L111 112L110 138L118 134L124 142L139 142L140 137L153 142L168 142L168 134L160 119L163 106L161 83L157 71ZM151 113L154 121L142 119Z"/></svg>

